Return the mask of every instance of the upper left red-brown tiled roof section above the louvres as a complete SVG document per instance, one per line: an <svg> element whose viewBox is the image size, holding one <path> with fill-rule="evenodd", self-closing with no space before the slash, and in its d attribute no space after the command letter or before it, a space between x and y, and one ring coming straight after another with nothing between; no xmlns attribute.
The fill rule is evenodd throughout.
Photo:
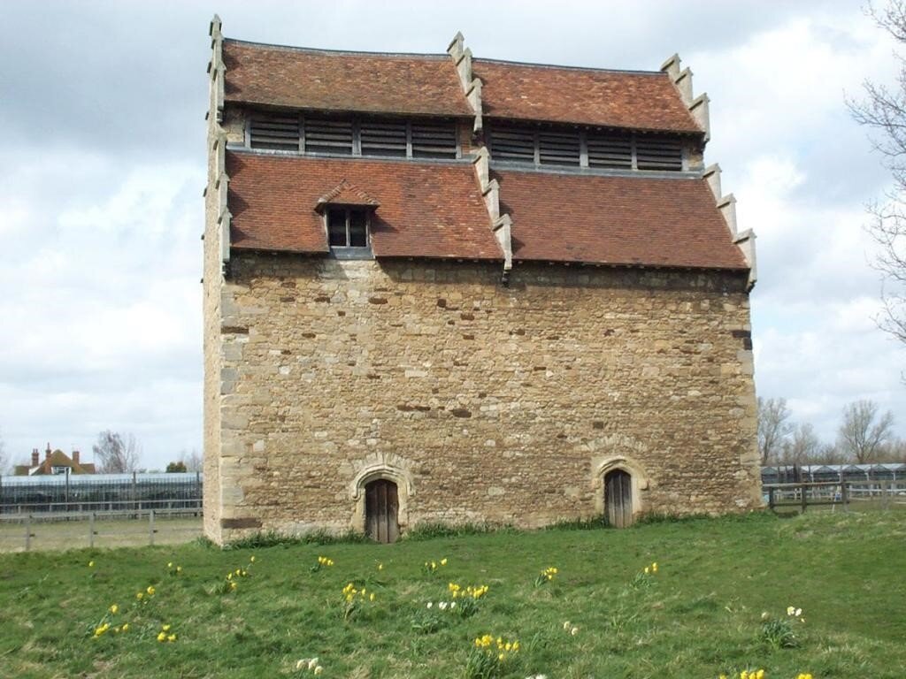
<svg viewBox="0 0 906 679"><path fill-rule="evenodd" d="M225 99L309 110L474 115L447 54L328 52L225 40Z"/></svg>

